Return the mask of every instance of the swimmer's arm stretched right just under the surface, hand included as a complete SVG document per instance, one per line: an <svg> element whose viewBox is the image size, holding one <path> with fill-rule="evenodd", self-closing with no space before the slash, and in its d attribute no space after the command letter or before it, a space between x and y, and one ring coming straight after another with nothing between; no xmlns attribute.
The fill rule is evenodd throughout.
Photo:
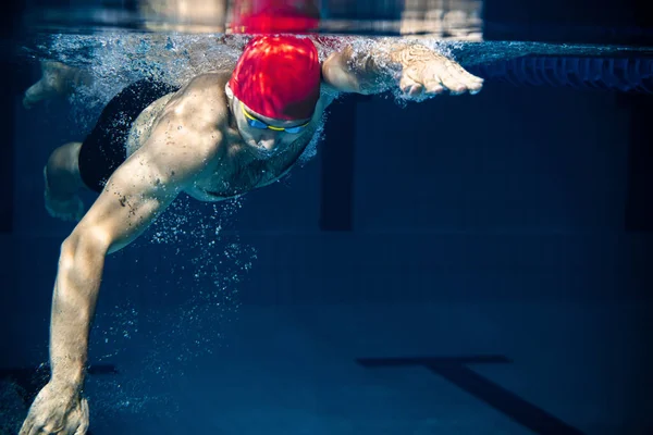
<svg viewBox="0 0 653 435"><path fill-rule="evenodd" d="M343 92L378 94L398 82L407 96L418 98L449 90L477 94L483 79L456 61L417 42L379 41L371 50L352 45L332 53L322 65L324 82Z"/></svg>

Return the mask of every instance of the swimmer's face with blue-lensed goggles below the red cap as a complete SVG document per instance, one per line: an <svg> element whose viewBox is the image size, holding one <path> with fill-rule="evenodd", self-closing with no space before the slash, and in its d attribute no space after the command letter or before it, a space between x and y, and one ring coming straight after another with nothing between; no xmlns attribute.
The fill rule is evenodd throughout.
<svg viewBox="0 0 653 435"><path fill-rule="evenodd" d="M256 113L231 92L229 85L226 96L241 137L249 146L249 151L257 157L270 157L287 149L310 127L311 119L284 121Z"/></svg>

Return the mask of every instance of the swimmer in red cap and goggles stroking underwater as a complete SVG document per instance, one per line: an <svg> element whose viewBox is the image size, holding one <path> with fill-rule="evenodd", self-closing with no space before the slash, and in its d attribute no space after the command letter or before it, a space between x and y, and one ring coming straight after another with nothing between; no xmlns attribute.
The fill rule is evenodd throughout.
<svg viewBox="0 0 653 435"><path fill-rule="evenodd" d="M48 210L81 220L60 250L51 377L20 435L86 433L83 385L104 258L134 241L181 192L220 201L275 182L297 162L340 92L398 86L421 100L482 87L481 78L419 44L379 40L367 52L345 46L323 62L318 44L255 36L234 70L199 75L180 89L138 82L109 102L84 142L52 152L44 171ZM77 196L83 188L99 194L86 213Z"/></svg>

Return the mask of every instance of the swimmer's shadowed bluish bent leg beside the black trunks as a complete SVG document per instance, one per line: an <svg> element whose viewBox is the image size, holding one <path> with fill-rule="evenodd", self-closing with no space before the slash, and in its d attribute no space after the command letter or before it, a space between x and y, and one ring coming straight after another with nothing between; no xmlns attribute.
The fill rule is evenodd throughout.
<svg viewBox="0 0 653 435"><path fill-rule="evenodd" d="M81 148L82 142L57 148L44 167L46 210L52 217L79 221L84 216L84 203L78 195L84 187L78 165Z"/></svg>

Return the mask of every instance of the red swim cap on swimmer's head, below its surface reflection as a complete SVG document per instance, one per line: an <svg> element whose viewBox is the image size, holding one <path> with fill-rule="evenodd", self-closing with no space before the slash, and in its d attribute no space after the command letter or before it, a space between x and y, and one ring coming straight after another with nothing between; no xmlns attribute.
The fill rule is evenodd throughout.
<svg viewBox="0 0 653 435"><path fill-rule="evenodd" d="M229 86L252 111L291 121L312 116L320 83L318 50L310 39L257 36L245 47Z"/></svg>

